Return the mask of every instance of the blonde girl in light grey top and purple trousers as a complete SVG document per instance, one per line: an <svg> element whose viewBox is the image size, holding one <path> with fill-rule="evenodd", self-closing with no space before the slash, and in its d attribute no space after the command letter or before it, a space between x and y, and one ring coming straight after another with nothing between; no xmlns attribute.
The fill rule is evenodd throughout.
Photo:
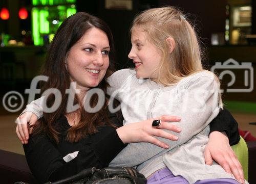
<svg viewBox="0 0 256 184"><path fill-rule="evenodd" d="M109 78L114 84L109 93L118 90L124 124L172 114L182 117L182 132L165 150L129 144L110 166L137 166L148 183L239 183L217 163L204 161L209 122L222 100L218 77L203 70L194 28L179 10L163 7L138 15L131 34L129 58L135 70L119 70Z"/></svg>

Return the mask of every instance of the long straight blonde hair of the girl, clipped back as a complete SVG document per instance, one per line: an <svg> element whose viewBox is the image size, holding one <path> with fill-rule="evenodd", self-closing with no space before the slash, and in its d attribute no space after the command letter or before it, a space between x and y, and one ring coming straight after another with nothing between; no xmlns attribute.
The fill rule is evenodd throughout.
<svg viewBox="0 0 256 184"><path fill-rule="evenodd" d="M198 36L177 8L166 6L145 10L135 17L131 32L136 28L142 28L148 35L147 39L161 51L161 64L156 73L158 83L175 85L182 78L203 71ZM172 53L166 42L169 37L176 44ZM216 75L215 78L219 82ZM222 107L221 95L219 102Z"/></svg>

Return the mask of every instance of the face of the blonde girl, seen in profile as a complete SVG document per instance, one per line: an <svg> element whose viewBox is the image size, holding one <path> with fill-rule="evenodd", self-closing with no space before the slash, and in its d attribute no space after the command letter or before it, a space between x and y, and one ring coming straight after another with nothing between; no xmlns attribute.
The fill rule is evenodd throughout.
<svg viewBox="0 0 256 184"><path fill-rule="evenodd" d="M132 31L132 49L128 55L135 64L137 78L156 79L156 72L161 62L161 51L147 39L148 35L142 28L135 27Z"/></svg>

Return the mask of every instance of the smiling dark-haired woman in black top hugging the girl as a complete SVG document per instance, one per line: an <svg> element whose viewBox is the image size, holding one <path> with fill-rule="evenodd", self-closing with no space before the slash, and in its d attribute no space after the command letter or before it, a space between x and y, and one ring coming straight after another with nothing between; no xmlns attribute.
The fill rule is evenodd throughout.
<svg viewBox="0 0 256 184"><path fill-rule="evenodd" d="M76 13L69 17L55 34L43 73L49 78L42 89L43 92L52 88L58 89L61 94L60 106L55 112L43 114L28 142L28 112L18 118L20 123L17 123L16 128L18 138L23 143L28 143L24 145L27 161L32 173L40 182L65 178L89 167L106 167L126 146L125 143L150 142L167 148L168 145L154 136L177 140L162 129L180 132L178 127L167 123L179 121L178 117L155 118L162 120L158 128L152 127L153 119L122 126L122 118L118 117L118 113L111 114L108 110L110 100L107 95L99 112L84 111L83 98L88 90L97 87L106 92L106 78L112 73L113 52L113 38L108 25L87 13ZM76 88L79 90L79 93L74 95L74 104L79 104L79 108L69 112L69 94L66 94L66 89L70 88L72 82L76 82ZM51 107L56 100L58 99L55 99L53 94L49 95L47 105ZM98 98L92 96L91 106L94 107L97 101ZM219 118L229 116L227 113L223 111ZM24 121L26 123L23 123ZM225 124L232 123L234 122ZM224 125L218 127L219 124L218 120L212 122L215 126L211 130L226 131L227 135L231 135L230 140L237 143L236 128L226 128ZM216 135L214 142L228 142L219 132L214 131L212 135ZM214 153L228 149L208 146L207 151L217 162L221 162L222 154ZM229 168L229 165L227 170L238 173L236 166Z"/></svg>

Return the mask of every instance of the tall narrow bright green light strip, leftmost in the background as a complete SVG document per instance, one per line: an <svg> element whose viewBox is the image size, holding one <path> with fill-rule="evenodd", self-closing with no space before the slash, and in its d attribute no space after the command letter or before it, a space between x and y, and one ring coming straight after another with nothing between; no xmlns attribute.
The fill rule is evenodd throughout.
<svg viewBox="0 0 256 184"><path fill-rule="evenodd" d="M32 32L33 32L33 39L34 45L40 45L40 34L39 34L39 25L38 25L38 9L32 9Z"/></svg>

